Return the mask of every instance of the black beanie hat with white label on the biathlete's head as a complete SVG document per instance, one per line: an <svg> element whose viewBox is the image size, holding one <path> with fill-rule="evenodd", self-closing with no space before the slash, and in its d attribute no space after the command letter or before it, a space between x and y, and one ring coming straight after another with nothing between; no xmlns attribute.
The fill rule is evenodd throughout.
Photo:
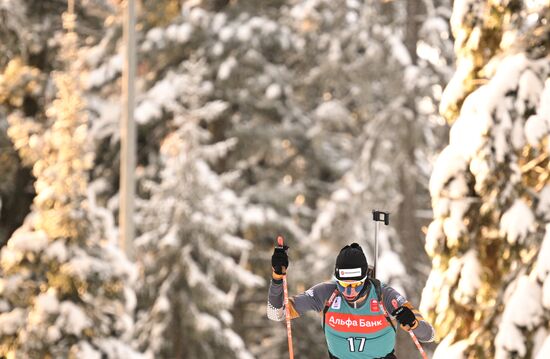
<svg viewBox="0 0 550 359"><path fill-rule="evenodd" d="M360 280L367 276L367 257L357 243L352 243L340 250L336 257L334 276L340 280Z"/></svg>

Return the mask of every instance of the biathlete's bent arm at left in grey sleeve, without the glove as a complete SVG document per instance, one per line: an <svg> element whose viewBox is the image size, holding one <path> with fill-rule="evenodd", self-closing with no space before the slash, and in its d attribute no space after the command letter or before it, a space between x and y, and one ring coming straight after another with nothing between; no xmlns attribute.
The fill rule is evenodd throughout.
<svg viewBox="0 0 550 359"><path fill-rule="evenodd" d="M290 317L294 319L308 311L322 311L326 300L335 289L336 284L334 282L323 282L314 285L303 293L289 298L288 305ZM275 321L282 321L285 319L282 279L271 280L267 299L267 317Z"/></svg>

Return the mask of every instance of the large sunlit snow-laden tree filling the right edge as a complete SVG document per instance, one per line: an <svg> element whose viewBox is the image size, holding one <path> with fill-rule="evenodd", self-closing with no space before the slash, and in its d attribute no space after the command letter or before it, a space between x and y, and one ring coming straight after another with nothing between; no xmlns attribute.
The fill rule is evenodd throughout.
<svg viewBox="0 0 550 359"><path fill-rule="evenodd" d="M456 121L430 180L422 302L443 339L434 358L550 355L549 15L543 2L455 2L441 112Z"/></svg>

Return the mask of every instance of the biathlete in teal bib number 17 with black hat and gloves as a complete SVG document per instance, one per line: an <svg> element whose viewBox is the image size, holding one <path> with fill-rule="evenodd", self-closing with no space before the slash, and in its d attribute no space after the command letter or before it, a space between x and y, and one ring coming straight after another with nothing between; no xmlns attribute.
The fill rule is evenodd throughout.
<svg viewBox="0 0 550 359"><path fill-rule="evenodd" d="M276 247L271 257L272 279L267 316L285 320L283 276L288 247ZM362 248L353 243L338 254L332 280L289 298L290 316L307 311L323 313L323 329L331 359L396 359L394 318L419 341L431 342L435 332L420 312L399 292L368 276Z"/></svg>

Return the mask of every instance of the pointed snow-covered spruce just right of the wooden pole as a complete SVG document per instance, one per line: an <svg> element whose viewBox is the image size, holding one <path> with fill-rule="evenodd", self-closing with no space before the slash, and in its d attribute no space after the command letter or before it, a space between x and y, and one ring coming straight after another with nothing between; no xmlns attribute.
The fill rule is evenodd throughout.
<svg viewBox="0 0 550 359"><path fill-rule="evenodd" d="M227 104L204 104L203 62L180 66L182 74L168 75L181 90L174 131L160 148L159 182L149 184L151 197L139 211L138 339L155 358L253 358L232 329L231 310L239 287L263 279L240 266L251 249L238 236L246 208L210 165L235 141L212 143L205 128Z"/></svg>

